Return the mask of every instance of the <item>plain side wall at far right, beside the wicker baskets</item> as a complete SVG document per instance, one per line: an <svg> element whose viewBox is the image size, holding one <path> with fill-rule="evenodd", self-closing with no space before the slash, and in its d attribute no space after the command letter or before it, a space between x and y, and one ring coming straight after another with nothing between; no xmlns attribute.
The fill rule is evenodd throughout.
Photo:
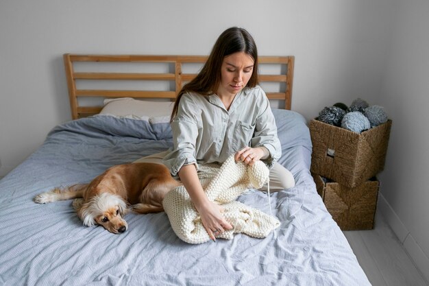
<svg viewBox="0 0 429 286"><path fill-rule="evenodd" d="M428 1L397 1L377 101L393 119L380 176L384 213L429 281L428 27Z"/></svg>

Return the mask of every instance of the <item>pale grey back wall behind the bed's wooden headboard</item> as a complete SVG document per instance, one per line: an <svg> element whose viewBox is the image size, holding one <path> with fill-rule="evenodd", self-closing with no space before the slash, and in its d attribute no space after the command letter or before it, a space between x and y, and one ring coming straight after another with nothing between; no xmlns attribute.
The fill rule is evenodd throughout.
<svg viewBox="0 0 429 286"><path fill-rule="evenodd" d="M62 53L208 54L238 25L260 55L296 56L292 106L310 118L378 93L388 2L1 1L0 176L71 119Z"/></svg>

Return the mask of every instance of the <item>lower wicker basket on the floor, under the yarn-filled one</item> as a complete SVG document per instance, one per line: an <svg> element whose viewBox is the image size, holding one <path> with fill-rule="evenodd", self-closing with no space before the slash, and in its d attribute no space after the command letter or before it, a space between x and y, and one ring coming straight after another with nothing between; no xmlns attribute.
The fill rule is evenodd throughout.
<svg viewBox="0 0 429 286"><path fill-rule="evenodd" d="M355 188L312 174L317 193L341 230L367 230L374 226L379 182L374 177Z"/></svg>

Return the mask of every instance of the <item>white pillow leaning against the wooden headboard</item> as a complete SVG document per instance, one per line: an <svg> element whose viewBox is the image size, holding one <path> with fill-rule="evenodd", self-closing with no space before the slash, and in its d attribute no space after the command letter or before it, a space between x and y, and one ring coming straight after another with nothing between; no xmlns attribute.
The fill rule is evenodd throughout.
<svg viewBox="0 0 429 286"><path fill-rule="evenodd" d="M131 97L104 99L103 104L100 115L149 120L152 123L169 122L174 106L174 102L151 102Z"/></svg>

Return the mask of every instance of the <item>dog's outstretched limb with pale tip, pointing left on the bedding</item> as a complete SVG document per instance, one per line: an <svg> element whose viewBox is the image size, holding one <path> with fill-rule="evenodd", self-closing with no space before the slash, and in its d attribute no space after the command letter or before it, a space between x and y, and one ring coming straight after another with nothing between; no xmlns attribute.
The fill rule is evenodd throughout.
<svg viewBox="0 0 429 286"><path fill-rule="evenodd" d="M88 184L73 184L73 186L62 189L55 188L52 191L36 195L33 200L38 204L46 204L47 202L56 202L59 200L83 198L86 187L88 187Z"/></svg>

